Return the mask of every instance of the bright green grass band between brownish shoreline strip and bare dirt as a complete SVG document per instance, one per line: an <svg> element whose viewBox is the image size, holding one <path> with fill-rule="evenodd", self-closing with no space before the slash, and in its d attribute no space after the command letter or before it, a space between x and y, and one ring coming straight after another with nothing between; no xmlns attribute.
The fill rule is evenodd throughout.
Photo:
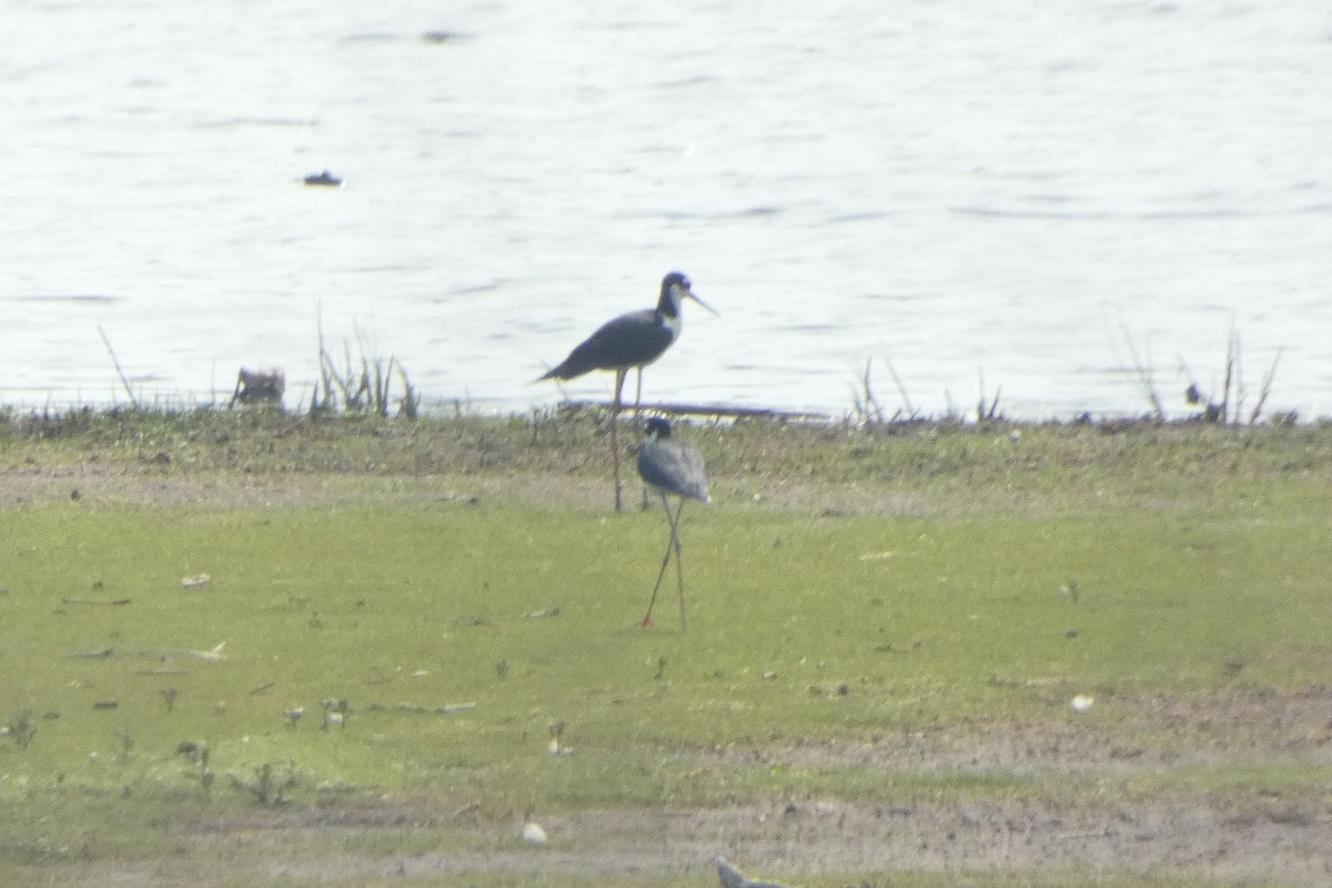
<svg viewBox="0 0 1332 888"><path fill-rule="evenodd" d="M368 728L349 731L338 748L352 781L384 756L429 762L412 748L418 731L440 732L426 748L462 743L485 762L497 746L519 755L511 744L523 735L543 747L558 719L582 746L867 738L978 710L1032 718L1082 690L1296 688L1324 676L1309 654L1328 642L1325 529L1312 523L694 510L694 628L683 636L669 586L658 628L634 624L662 549L654 513L75 502L11 511L0 525L0 608L27 628L0 660L7 703L61 714L39 726L28 754L52 763L105 751L97 731L121 722L140 726L144 746L250 736L269 756L305 759L328 738L309 723L288 728L281 711L304 706L316 722L325 698L358 710L478 704L446 719L353 716L404 730L384 747L354 739ZM180 587L198 572L213 582ZM132 602L77 603L119 598ZM163 664L157 651L221 642L220 663L172 655L186 675L144 675ZM71 656L103 648L115 654ZM1245 664L1240 678L1232 660ZM854 692L832 694L843 682ZM166 687L178 694L169 715ZM92 711L104 699L117 708Z"/></svg>

